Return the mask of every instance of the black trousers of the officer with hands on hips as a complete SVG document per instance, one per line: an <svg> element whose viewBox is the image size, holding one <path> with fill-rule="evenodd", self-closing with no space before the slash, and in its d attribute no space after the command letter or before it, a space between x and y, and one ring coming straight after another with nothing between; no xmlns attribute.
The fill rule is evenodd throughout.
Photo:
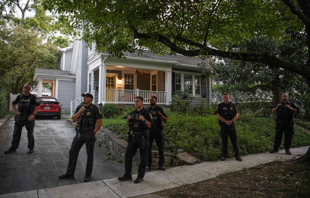
<svg viewBox="0 0 310 198"><path fill-rule="evenodd" d="M27 138L28 138L28 148L34 148L34 137L33 137L33 128L34 128L34 119L29 121L30 114L22 114L17 116L14 132L13 132L13 140L11 148L17 149L19 147L20 137L22 136L22 127L25 126L27 130Z"/></svg>

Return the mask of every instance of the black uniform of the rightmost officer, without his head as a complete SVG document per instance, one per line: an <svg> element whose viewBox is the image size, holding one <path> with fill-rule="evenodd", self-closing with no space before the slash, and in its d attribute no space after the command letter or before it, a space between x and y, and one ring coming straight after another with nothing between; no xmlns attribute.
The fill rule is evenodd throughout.
<svg viewBox="0 0 310 198"><path fill-rule="evenodd" d="M276 119L276 135L274 137L273 148L278 150L282 141L282 134L284 131L284 148L290 148L292 144L292 139L294 135L294 123L293 116L294 112L285 107L286 104L290 105L292 108L297 109L297 113L299 113L299 108L292 102L288 101L287 103L283 103L283 101L278 102L274 105L273 109L277 107L278 104L282 104L281 107L277 109L277 119Z"/></svg>

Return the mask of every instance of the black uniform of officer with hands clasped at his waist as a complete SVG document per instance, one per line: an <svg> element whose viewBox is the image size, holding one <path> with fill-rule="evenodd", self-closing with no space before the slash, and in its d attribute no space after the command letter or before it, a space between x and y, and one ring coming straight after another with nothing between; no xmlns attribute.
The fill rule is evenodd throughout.
<svg viewBox="0 0 310 198"><path fill-rule="evenodd" d="M228 104L218 104L215 113L220 114L225 120L229 121L232 120L238 111L236 105L232 104L232 102L229 102ZM232 148L235 152L235 157L240 157L235 123L232 123L230 126L228 126L226 123L219 120L219 124L221 128L220 136L222 138L222 157L228 157L228 135L230 141L232 142Z"/></svg>

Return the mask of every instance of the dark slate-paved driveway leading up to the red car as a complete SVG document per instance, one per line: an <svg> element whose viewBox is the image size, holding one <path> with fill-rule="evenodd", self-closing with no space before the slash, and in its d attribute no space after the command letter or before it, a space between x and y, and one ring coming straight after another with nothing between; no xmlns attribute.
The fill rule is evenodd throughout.
<svg viewBox="0 0 310 198"><path fill-rule="evenodd" d="M59 180L66 172L69 150L75 130L66 120L51 117L36 118L34 127L34 153L28 154L27 131L22 137L17 152L4 154L11 146L14 117L8 120L0 138L0 194L65 186L83 182L87 161L85 144L73 180ZM107 151L95 146L92 181L122 176L124 165L107 160ZM137 171L134 170L134 173Z"/></svg>

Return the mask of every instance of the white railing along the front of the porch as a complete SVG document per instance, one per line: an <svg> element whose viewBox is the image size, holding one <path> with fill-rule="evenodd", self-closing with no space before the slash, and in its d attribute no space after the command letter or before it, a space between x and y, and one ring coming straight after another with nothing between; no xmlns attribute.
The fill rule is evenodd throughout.
<svg viewBox="0 0 310 198"><path fill-rule="evenodd" d="M164 91L145 91L145 90L128 90L128 89L106 89L107 104L134 104L134 98L141 96L148 103L151 96L157 97L157 104L167 104L167 92Z"/></svg>

